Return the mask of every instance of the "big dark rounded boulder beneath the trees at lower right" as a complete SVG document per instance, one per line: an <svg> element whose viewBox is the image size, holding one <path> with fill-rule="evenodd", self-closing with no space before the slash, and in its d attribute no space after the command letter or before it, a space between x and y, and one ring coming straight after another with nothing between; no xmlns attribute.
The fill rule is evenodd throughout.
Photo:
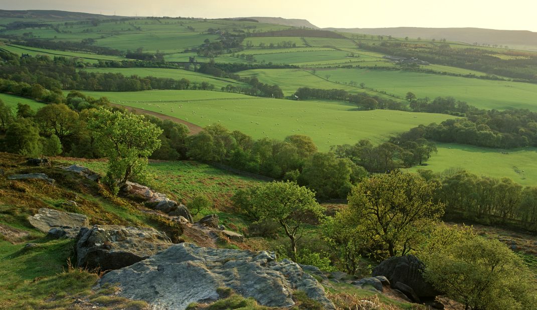
<svg viewBox="0 0 537 310"><path fill-rule="evenodd" d="M423 278L424 264L413 255L390 257L373 269L373 276L388 278L392 287L397 282L407 285L419 298L434 299L440 293ZM397 287L394 287L397 289ZM402 291L401 289L398 289ZM408 290L407 290L408 291ZM415 299L407 295L411 299Z"/></svg>

